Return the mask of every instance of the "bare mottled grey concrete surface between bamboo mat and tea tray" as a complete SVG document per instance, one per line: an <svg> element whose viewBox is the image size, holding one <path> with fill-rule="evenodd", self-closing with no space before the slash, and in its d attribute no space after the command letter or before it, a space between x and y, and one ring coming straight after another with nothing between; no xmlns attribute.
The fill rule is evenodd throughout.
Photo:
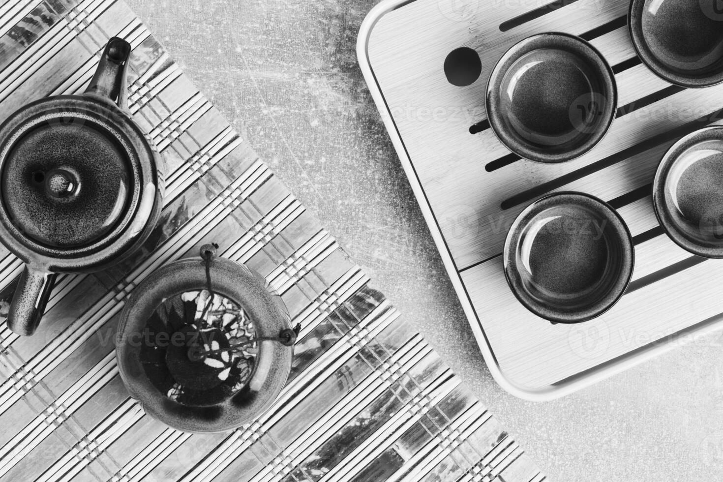
<svg viewBox="0 0 723 482"><path fill-rule="evenodd" d="M551 481L723 480L720 335L549 403L497 386L356 64L376 1L127 1Z"/></svg>

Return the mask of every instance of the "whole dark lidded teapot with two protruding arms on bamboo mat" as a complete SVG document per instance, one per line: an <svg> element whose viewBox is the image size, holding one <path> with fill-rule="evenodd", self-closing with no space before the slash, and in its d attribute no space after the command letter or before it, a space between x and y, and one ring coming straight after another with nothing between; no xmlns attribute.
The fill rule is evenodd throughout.
<svg viewBox="0 0 723 482"><path fill-rule="evenodd" d="M58 273L103 270L155 228L163 164L127 111L130 51L112 38L84 94L0 126L0 241L26 263L8 316L20 335L35 332Z"/></svg>

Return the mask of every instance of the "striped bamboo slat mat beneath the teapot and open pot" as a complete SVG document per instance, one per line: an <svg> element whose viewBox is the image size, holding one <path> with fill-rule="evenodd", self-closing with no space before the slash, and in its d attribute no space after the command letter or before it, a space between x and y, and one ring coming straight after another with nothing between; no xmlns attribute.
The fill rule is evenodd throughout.
<svg viewBox="0 0 723 482"><path fill-rule="evenodd" d="M132 259L59 277L33 337L0 328L0 480L545 480L124 3L4 2L0 116L85 90L113 35L134 48L129 101L166 160L165 208ZM267 413L191 435L129 398L114 335L141 280L210 241L264 275L303 330ZM21 267L0 248L4 301Z"/></svg>

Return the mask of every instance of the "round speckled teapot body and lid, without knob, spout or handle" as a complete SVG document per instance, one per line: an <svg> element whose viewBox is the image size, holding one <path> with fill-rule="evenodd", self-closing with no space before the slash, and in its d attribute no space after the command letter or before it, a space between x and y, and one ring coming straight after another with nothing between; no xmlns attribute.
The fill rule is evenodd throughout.
<svg viewBox="0 0 723 482"><path fill-rule="evenodd" d="M131 226L132 220L155 197L143 191L156 182L148 178L155 163L151 148L114 106L101 102L77 96L40 100L0 129L0 221L18 249L61 258L51 266L62 270L100 262L85 256L93 258L128 228L142 228ZM74 178L77 186L68 196L52 192L54 172Z"/></svg>

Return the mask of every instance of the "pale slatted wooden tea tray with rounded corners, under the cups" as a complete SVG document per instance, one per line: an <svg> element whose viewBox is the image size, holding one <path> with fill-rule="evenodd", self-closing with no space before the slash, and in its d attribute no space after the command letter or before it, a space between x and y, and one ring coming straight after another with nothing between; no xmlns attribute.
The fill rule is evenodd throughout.
<svg viewBox="0 0 723 482"><path fill-rule="evenodd" d="M548 400L723 327L722 262L693 257L664 234L651 182L680 137L721 124L723 85L675 87L638 59L628 0L387 0L361 28L359 61L492 374L506 390ZM543 32L581 35L615 71L619 111L607 136L557 165L510 154L487 123L484 92L497 60ZM444 62L473 48L482 74L448 82ZM472 134L471 132L475 132ZM527 311L502 272L502 246L543 194L583 191L609 202L636 249L625 296L602 317L551 324Z"/></svg>

